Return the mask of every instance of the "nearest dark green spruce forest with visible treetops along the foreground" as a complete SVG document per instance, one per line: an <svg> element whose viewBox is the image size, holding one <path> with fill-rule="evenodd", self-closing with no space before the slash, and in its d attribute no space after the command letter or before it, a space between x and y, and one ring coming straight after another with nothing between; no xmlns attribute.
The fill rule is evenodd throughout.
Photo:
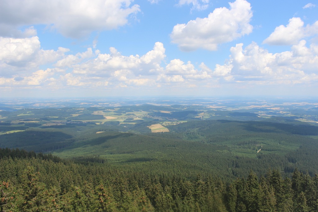
<svg viewBox="0 0 318 212"><path fill-rule="evenodd" d="M278 170L225 183L142 173L100 158L0 149L1 211L317 211L318 175Z"/></svg>

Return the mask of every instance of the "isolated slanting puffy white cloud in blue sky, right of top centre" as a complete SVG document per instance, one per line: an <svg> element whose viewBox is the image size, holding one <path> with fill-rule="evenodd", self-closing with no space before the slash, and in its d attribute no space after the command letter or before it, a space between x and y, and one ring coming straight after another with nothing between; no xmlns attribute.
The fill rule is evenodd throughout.
<svg viewBox="0 0 318 212"><path fill-rule="evenodd" d="M252 32L250 3L236 0L230 9L217 8L206 18L197 18L187 24L177 24L170 34L172 43L182 51L198 48L217 50L218 44L230 42Z"/></svg>

